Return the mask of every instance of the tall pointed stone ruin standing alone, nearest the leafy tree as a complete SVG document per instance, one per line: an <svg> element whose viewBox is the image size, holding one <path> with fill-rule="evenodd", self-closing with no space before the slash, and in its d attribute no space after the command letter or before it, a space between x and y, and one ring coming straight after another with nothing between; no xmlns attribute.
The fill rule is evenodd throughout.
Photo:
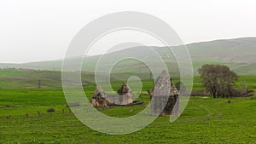
<svg viewBox="0 0 256 144"><path fill-rule="evenodd" d="M179 115L179 93L166 71L161 72L150 95L151 115Z"/></svg>

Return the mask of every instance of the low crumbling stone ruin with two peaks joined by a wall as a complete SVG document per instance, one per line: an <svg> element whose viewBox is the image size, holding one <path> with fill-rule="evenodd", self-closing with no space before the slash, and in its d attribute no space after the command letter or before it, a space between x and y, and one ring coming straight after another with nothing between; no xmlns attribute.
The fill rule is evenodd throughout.
<svg viewBox="0 0 256 144"><path fill-rule="evenodd" d="M92 95L91 98L91 104L93 107L130 105L132 102L132 92L126 83L122 84L121 88L118 89L117 95L107 94L102 90L100 85L97 85L94 95Z"/></svg>

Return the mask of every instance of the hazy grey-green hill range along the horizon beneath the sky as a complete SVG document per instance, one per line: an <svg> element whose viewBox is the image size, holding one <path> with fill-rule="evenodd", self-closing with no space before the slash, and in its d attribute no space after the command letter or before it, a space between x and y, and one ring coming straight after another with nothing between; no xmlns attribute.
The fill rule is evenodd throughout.
<svg viewBox="0 0 256 144"><path fill-rule="evenodd" d="M238 74L256 74L256 37L241 37L235 39L220 39L209 42L189 43L186 45L191 60L193 62L194 71L203 64L224 64ZM178 49L181 46L172 47ZM167 47L152 46L161 59L165 60L166 66L171 72L178 71L177 62L174 55ZM119 57L127 57L129 55L139 55L142 59L148 60L154 65L158 65L160 61L150 61L155 53L148 50L148 47L132 47L129 49L122 49L112 53L102 55L104 58L102 66L98 67L100 71L104 71L110 63ZM182 55L175 55L182 56ZM100 55L88 56L83 61L82 71L93 72L95 70L96 62ZM70 59L70 64L79 64L79 58ZM115 61L117 62L117 61ZM62 60L38 61L24 64L0 64L0 68L15 67L25 69L40 69L40 70L55 70L60 71ZM121 60L113 67L114 72L150 72L148 66L138 60Z"/></svg>

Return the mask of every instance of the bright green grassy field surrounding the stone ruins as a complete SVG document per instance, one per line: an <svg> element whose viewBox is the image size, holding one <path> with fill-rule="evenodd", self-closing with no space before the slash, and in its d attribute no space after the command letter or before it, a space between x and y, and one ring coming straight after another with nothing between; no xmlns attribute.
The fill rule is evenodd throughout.
<svg viewBox="0 0 256 144"><path fill-rule="evenodd" d="M188 106L174 123L169 122L169 117L159 117L154 123L135 133L107 135L91 130L70 112L66 107L67 102L59 84L58 74L42 73L35 72L34 75L27 72L0 73L0 78L8 80L6 82L0 80L2 88L0 89L0 143L256 142L256 98L253 97L213 99L209 95L192 96ZM9 77L27 78L26 84L34 86L33 84L37 84L38 76L48 82L44 83L44 86L47 86L44 89L16 87L25 82L22 80L13 82L8 79ZM84 75L84 77L88 76ZM58 85L47 81L50 79L55 79L52 83ZM240 81L243 80L247 81L248 88L255 89L256 76L240 76ZM174 81L176 81L175 78ZM118 79L113 81L113 89L118 89L121 83L122 81ZM15 89L11 89L12 85ZM236 85L238 86L239 83ZM145 90L152 88L152 80L143 80L143 93L138 100L148 104L149 97ZM84 86L88 97L93 94L94 89L94 84L88 83ZM195 77L194 89L203 89L199 77ZM228 103L228 100L231 103ZM55 112L46 112L49 108L55 108ZM143 108L141 106L112 107L101 112L113 117L129 117L142 111ZM40 112L39 115L38 112Z"/></svg>

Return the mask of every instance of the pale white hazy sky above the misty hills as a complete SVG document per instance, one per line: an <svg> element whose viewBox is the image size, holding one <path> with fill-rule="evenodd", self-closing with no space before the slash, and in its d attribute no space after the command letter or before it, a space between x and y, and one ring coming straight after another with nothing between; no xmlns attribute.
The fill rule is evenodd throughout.
<svg viewBox="0 0 256 144"><path fill-rule="evenodd" d="M0 63L61 59L83 26L119 11L153 14L184 43L256 36L255 0L0 0Z"/></svg>

